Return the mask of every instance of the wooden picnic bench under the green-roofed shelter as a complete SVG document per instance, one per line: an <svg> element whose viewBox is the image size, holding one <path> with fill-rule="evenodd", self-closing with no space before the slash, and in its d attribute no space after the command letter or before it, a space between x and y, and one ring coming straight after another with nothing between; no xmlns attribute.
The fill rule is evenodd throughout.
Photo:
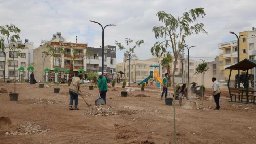
<svg viewBox="0 0 256 144"><path fill-rule="evenodd" d="M238 100L240 100L240 96L241 96L241 101L243 100L243 97L242 97L242 91L241 90L246 90L245 88L234 88L234 87L230 87L230 99L231 101L233 101L232 97L235 96L235 102L236 102L236 96L238 96ZM246 92L244 91L243 92L243 96L246 96ZM251 96L251 102L253 100L253 103L254 103L254 95L253 93L248 93L248 97Z"/></svg>

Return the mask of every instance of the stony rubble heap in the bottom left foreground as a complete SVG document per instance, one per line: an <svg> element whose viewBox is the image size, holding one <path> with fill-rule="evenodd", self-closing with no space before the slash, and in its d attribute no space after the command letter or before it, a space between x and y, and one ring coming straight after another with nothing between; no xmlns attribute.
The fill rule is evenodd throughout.
<svg viewBox="0 0 256 144"><path fill-rule="evenodd" d="M3 135L31 135L41 132L47 132L46 127L42 127L36 123L31 123L29 121L24 121L21 124L17 123L17 127L14 131L2 133Z"/></svg>

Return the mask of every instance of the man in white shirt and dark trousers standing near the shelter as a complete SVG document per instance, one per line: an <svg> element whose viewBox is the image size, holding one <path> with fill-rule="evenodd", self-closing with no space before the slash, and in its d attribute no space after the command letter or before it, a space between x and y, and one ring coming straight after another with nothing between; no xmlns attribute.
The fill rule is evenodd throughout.
<svg viewBox="0 0 256 144"><path fill-rule="evenodd" d="M212 77L212 82L213 82L213 96L214 96L214 101L216 103L216 108L214 110L219 110L219 97L221 97L221 86L219 83L216 81L215 77Z"/></svg>

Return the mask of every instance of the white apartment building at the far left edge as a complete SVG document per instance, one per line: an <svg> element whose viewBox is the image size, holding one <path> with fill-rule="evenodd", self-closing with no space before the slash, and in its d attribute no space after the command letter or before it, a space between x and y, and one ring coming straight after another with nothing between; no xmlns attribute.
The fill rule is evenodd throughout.
<svg viewBox="0 0 256 144"><path fill-rule="evenodd" d="M16 46L19 48L21 56L18 56L17 52L14 52L14 61L12 54L9 53L9 48L5 48L4 52L0 52L0 76L1 79L4 78L5 73L5 79L8 77L10 79L14 79L14 75L16 76L16 79L19 79L21 81L28 79L26 69L30 65L33 65L33 44L29 43L28 39L25 39L25 43L22 43L21 39L18 39L16 42L12 42L13 46ZM20 49L20 48L24 49ZM6 54L6 59L5 59ZM5 65L6 64L6 65ZM5 72L4 72L4 66L5 66ZM14 71L15 66L15 71ZM18 69L20 67L24 67L25 71L23 74L20 74L18 72Z"/></svg>

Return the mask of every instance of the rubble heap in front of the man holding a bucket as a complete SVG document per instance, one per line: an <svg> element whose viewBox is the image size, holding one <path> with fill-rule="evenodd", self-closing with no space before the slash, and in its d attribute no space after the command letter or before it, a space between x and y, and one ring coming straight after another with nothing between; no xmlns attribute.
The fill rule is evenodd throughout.
<svg viewBox="0 0 256 144"><path fill-rule="evenodd" d="M92 116L109 116L116 115L117 113L107 105L97 105L84 113L84 115Z"/></svg>

